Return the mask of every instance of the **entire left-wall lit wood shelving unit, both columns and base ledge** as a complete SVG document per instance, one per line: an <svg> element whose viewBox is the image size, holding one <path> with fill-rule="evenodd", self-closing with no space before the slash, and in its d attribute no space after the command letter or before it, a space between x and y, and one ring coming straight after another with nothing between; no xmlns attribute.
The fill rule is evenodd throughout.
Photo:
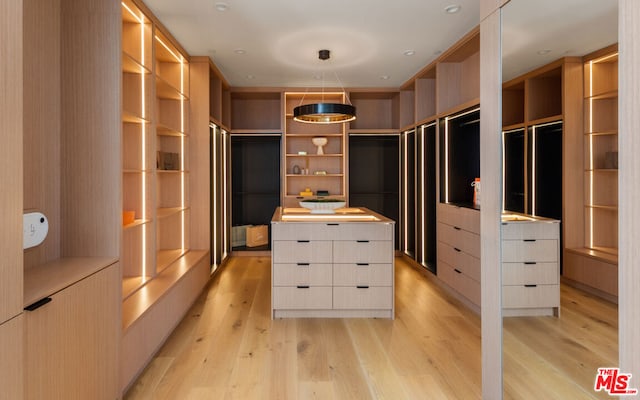
<svg viewBox="0 0 640 400"><path fill-rule="evenodd" d="M209 121L225 120L226 83L211 79L211 64L200 59L191 82L189 56L151 12L135 0L121 10L124 390L210 273Z"/></svg>

